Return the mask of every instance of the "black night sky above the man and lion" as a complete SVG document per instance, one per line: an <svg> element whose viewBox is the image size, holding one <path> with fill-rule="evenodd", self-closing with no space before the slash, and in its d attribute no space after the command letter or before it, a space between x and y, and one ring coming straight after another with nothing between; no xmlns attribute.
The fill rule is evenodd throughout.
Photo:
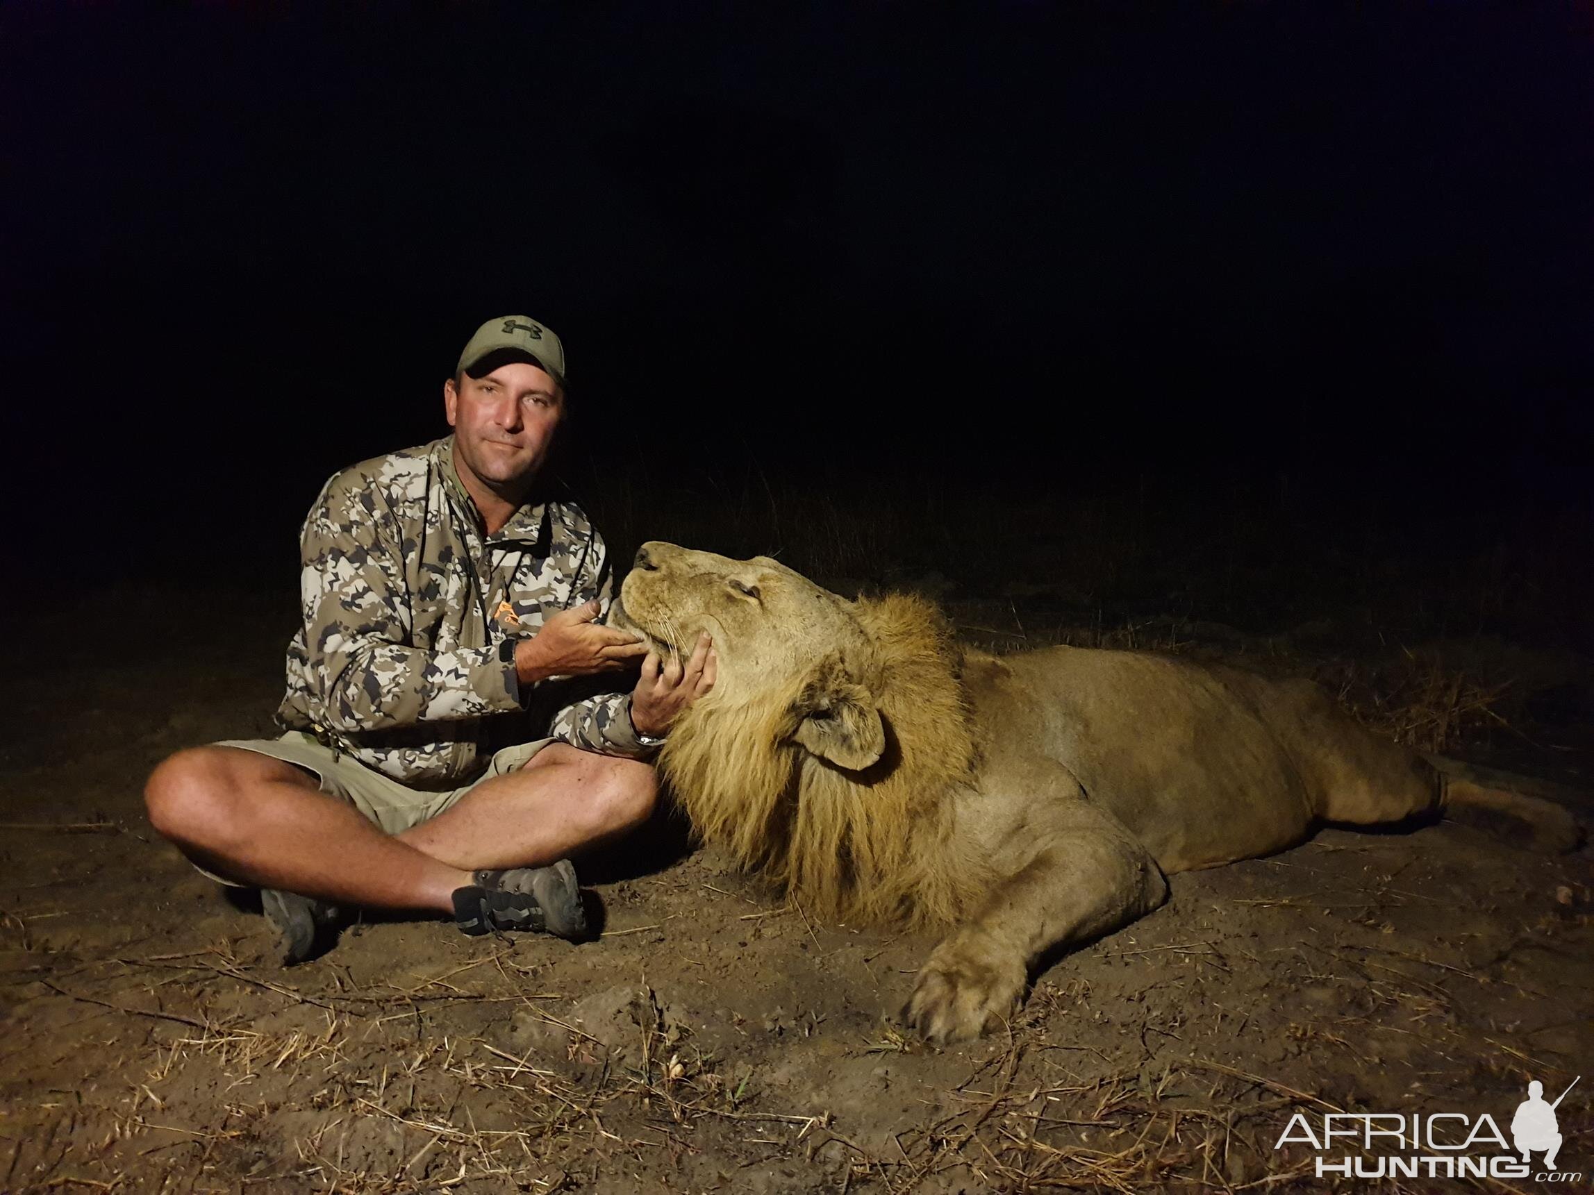
<svg viewBox="0 0 1594 1195"><path fill-rule="evenodd" d="M19 497L276 535L526 311L609 470L1588 502L1586 8L776 11L8 6Z"/></svg>

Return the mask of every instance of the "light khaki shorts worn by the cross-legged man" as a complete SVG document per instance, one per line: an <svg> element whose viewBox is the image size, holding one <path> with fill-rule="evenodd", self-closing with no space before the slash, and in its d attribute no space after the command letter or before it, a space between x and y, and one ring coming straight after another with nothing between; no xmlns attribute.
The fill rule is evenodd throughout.
<svg viewBox="0 0 1594 1195"><path fill-rule="evenodd" d="M493 760L488 763L488 770L477 776L477 779L470 781L470 784L457 789L440 789L435 792L411 789L400 784L375 768L367 768L352 755L333 750L320 742L314 735L306 735L301 730L290 730L279 739L223 739L222 742L215 742L212 746L253 750L260 755L269 755L274 760L282 760L284 763L295 763L312 773L320 781L320 790L324 793L347 801L368 819L376 822L386 833L400 833L402 830L408 830L411 825L419 825L421 822L437 817L437 814L443 813L443 809L453 808L461 797L481 784L481 781L491 779L493 776L502 776L507 771L520 771L531 762L532 755L547 747L550 742L558 741L559 739L534 739L531 742L516 742L513 747L504 747L502 750L494 752ZM199 867L199 864L194 864L194 867ZM244 887L244 884L218 876L215 872L209 872L202 867L199 867L199 870L217 883L228 884L231 887Z"/></svg>

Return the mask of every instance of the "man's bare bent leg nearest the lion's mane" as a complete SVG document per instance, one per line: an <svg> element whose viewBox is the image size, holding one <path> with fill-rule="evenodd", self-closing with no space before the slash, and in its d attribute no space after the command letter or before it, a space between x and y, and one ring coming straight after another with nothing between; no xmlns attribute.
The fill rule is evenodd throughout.
<svg viewBox="0 0 1594 1195"><path fill-rule="evenodd" d="M461 868L539 867L647 821L657 790L647 763L550 742L398 841Z"/></svg>

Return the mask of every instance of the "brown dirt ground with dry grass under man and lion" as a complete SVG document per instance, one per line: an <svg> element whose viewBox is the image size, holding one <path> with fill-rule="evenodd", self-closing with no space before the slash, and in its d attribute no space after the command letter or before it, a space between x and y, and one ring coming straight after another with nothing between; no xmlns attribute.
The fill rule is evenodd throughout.
<svg viewBox="0 0 1594 1195"><path fill-rule="evenodd" d="M1007 1032L944 1052L889 1020L928 937L811 923L669 824L585 864L598 942L373 921L284 970L258 913L151 833L140 786L177 747L269 731L290 602L135 594L115 648L65 610L14 674L0 1190L1318 1190L1310 1147L1275 1149L1298 1111L1508 1125L1529 1079L1553 1098L1578 1074L1561 1173L1594 1171L1589 851L1459 824L1176 876L1165 908L1046 970ZM952 610L982 644L1101 637L1049 623L1046 594ZM1321 666L1226 628L1137 634ZM1337 668L1393 715L1388 687L1358 698L1376 661ZM1443 717L1465 714L1454 690ZM1516 750L1589 774L1586 739Z"/></svg>

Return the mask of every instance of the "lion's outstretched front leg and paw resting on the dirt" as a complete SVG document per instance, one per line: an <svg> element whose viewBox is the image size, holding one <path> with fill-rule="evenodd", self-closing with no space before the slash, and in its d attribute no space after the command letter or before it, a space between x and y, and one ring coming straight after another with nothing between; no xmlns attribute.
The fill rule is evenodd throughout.
<svg viewBox="0 0 1594 1195"><path fill-rule="evenodd" d="M1041 824L1025 827L1038 849L918 974L902 1017L932 1042L991 1031L1039 958L1127 926L1167 899L1156 860L1106 811L1071 800L1038 814Z"/></svg>

